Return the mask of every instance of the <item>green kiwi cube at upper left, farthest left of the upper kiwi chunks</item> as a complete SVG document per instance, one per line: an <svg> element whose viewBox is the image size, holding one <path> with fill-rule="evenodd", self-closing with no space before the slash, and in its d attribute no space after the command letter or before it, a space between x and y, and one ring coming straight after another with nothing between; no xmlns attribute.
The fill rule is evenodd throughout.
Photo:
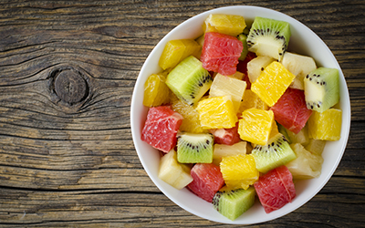
<svg viewBox="0 0 365 228"><path fill-rule="evenodd" d="M166 85L176 97L192 106L203 97L212 82L213 78L202 62L193 56L184 58L166 78Z"/></svg>

